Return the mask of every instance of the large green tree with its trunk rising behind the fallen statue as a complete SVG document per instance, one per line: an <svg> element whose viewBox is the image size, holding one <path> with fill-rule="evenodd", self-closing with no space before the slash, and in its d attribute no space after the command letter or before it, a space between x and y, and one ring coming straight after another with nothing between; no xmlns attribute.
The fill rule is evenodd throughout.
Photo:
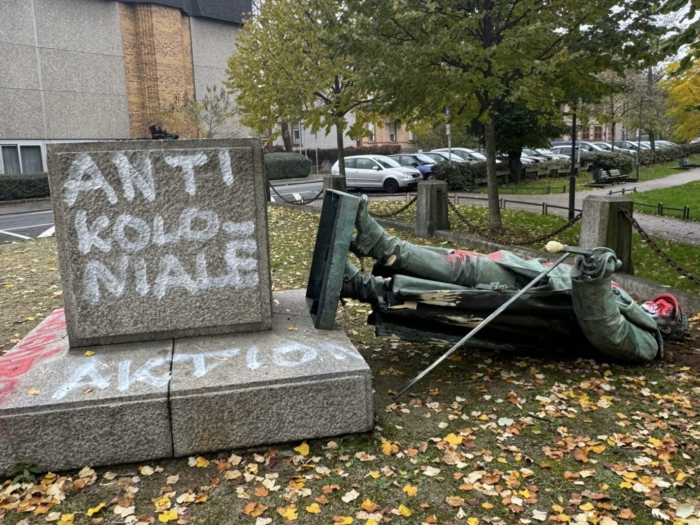
<svg viewBox="0 0 700 525"><path fill-rule="evenodd" d="M491 230L500 233L496 116L503 101L556 109L572 78L622 69L640 58L650 5L640 0L375 0L363 2L379 27L367 31L381 62L388 111L484 125ZM631 45L630 45L631 44ZM414 69L406 71L406 64ZM552 83L552 79L561 83ZM579 89L583 89L578 85Z"/></svg>

